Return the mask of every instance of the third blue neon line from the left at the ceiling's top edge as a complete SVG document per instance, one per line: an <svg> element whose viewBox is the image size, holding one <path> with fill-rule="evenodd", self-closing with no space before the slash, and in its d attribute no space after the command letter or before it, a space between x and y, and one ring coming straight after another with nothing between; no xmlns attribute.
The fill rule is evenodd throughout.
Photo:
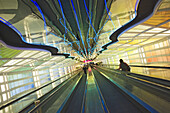
<svg viewBox="0 0 170 113"><path fill-rule="evenodd" d="M80 32L80 37L81 37L81 40L82 40L82 44L83 44L83 46L84 46L85 53L87 54L87 51L86 51L86 48L85 48L85 44L84 44L84 40L83 40L83 37L82 37L82 34L81 34L81 29L80 29L79 21L78 21L78 18L77 18L77 13L76 13L76 10L75 10L75 7L74 7L73 0L71 0L71 4L72 4L72 6L73 6L74 15L75 15L75 17L76 17L76 22L77 22L77 26L78 26L78 29L79 29L79 32ZM86 55L85 55L85 56L86 56Z"/></svg>

